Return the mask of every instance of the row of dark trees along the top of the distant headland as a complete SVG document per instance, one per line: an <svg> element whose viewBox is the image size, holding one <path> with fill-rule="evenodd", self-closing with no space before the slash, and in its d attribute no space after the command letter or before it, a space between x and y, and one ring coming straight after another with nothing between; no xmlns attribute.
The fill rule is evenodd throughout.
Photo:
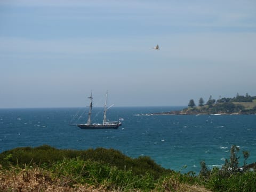
<svg viewBox="0 0 256 192"><path fill-rule="evenodd" d="M205 103L205 105L208 105L209 107L212 107L214 103L226 103L226 102L253 102L253 99L256 99L256 96L251 97L248 93L243 95L236 94L236 97L234 98L219 98L217 101L215 99L212 99L212 95L210 95L209 100ZM188 107L195 107L195 101L194 99L190 99L188 103ZM204 99L201 97L198 101L198 106L202 107L204 106Z"/></svg>

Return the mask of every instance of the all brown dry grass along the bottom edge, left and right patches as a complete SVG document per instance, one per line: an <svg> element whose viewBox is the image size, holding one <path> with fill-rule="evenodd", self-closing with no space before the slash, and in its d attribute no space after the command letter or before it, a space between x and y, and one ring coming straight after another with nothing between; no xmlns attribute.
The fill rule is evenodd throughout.
<svg viewBox="0 0 256 192"><path fill-rule="evenodd" d="M84 191L84 192L98 192L98 191L122 191L121 188L116 190L108 190L104 186L89 186L89 185L73 185L70 186L73 180L67 178L66 180L52 179L51 173L39 167L20 169L12 167L11 170L3 170L0 167L0 191ZM178 191L178 192L210 192L202 186L194 186L180 183L175 178L168 178L159 186L161 191ZM158 189L159 189L158 188ZM133 189L131 191L141 191ZM157 188L153 191L158 191Z"/></svg>

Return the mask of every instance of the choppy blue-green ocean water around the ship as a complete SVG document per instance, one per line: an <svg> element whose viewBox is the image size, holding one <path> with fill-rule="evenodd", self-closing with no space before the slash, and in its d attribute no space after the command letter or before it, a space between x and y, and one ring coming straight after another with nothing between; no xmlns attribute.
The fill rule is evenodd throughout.
<svg viewBox="0 0 256 192"><path fill-rule="evenodd" d="M198 173L203 160L209 167L220 167L236 145L241 165L243 150L250 152L248 163L256 162L255 115L142 115L182 108L113 107L107 118L124 118L117 130L69 126L74 117L79 121L73 119L73 124L86 122L87 109L82 108L0 109L0 153L44 144L60 149L114 148L134 158L150 156L167 169ZM102 122L101 111L93 108L93 122Z"/></svg>

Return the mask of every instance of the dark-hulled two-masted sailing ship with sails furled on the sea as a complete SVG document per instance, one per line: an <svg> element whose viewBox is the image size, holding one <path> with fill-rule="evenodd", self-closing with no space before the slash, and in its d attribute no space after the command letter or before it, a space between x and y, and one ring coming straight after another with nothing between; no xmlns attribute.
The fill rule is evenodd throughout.
<svg viewBox="0 0 256 192"><path fill-rule="evenodd" d="M88 113L88 119L87 119L87 123L85 124L77 124L78 127L80 127L81 129L118 129L119 126L122 125L122 123L120 121L114 121L114 122L109 122L106 119L106 113L107 110L112 107L108 107L107 108L107 97L108 97L108 92L106 92L106 97L105 97L105 105L104 105L104 114L103 114L103 123L91 123L91 113L92 113L92 92L91 92L91 96L88 98L90 99L90 106L89 106L89 113Z"/></svg>

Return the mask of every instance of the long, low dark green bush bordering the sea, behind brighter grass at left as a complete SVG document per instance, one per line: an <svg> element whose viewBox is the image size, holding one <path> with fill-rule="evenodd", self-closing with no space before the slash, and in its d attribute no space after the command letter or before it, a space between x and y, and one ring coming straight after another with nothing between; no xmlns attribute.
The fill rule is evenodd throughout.
<svg viewBox="0 0 256 192"><path fill-rule="evenodd" d="M25 147L4 151L4 153L0 154L0 164L4 167L17 164L21 167L25 167L29 164L49 167L55 162L73 158L79 158L83 161L91 160L93 162L115 166L118 170L132 169L134 175L146 175L150 173L155 179L158 179L161 175L172 172L156 164L150 157L133 159L114 149L67 150L55 149L46 145L35 148Z"/></svg>

